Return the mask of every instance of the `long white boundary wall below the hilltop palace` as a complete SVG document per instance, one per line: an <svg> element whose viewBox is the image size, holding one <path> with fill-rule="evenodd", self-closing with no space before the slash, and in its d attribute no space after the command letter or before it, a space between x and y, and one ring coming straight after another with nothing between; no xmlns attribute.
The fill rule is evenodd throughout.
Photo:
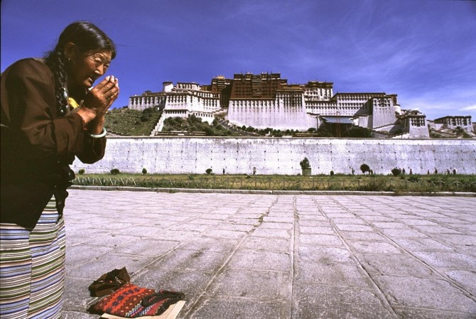
<svg viewBox="0 0 476 319"><path fill-rule="evenodd" d="M362 173L366 163L374 173L389 174L405 168L408 173L476 174L476 140L467 139L296 139L296 138L202 138L110 137L106 155L92 165L76 160L72 169L87 173L301 173L299 162L307 157L312 173Z"/></svg>

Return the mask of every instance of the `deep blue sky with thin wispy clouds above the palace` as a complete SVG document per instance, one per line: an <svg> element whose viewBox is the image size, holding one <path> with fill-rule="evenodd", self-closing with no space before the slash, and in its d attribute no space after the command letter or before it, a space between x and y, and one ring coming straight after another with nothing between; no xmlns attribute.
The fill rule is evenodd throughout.
<svg viewBox="0 0 476 319"><path fill-rule="evenodd" d="M334 82L334 93L398 94L427 119L476 121L476 1L2 0L1 71L42 56L77 20L117 44L114 107L163 81L281 72Z"/></svg>

